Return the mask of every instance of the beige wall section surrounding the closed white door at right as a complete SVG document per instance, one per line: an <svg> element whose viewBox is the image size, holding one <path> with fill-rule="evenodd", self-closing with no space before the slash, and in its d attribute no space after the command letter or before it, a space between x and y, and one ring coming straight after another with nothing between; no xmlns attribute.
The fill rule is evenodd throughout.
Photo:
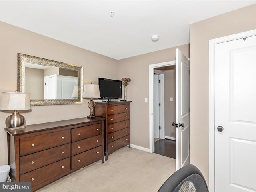
<svg viewBox="0 0 256 192"><path fill-rule="evenodd" d="M256 4L190 25L190 163L208 181L209 40L256 29Z"/></svg>

